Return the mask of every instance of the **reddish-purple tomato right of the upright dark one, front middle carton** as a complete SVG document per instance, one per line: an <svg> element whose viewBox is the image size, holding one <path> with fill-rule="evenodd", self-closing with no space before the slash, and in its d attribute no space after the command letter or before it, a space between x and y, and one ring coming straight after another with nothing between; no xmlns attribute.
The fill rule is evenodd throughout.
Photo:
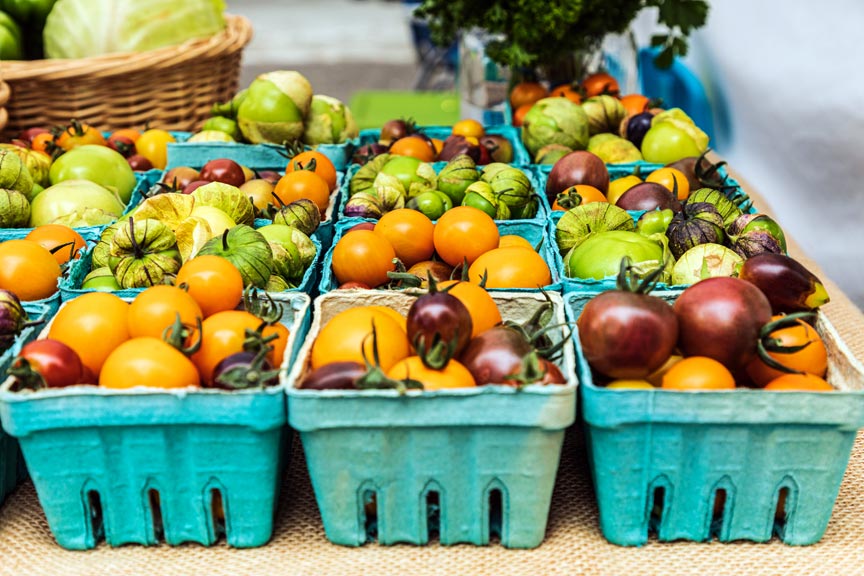
<svg viewBox="0 0 864 576"><path fill-rule="evenodd" d="M471 339L459 361L474 376L478 386L520 382L512 379L522 372L525 357L534 351L519 331L509 326L493 326Z"/></svg>

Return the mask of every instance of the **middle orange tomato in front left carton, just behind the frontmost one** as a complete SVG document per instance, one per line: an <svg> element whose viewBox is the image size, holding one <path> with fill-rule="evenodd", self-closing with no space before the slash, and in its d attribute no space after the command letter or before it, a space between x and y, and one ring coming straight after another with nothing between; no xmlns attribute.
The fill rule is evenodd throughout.
<svg viewBox="0 0 864 576"><path fill-rule="evenodd" d="M189 327L204 319L201 307L185 290L176 286L151 286L129 305L129 336L162 339L178 315L180 322Z"/></svg>

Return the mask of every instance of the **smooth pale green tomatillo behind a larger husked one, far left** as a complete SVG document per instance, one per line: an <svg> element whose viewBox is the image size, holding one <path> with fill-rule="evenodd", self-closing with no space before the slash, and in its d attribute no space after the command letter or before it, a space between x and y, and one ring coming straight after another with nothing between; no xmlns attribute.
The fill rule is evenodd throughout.
<svg viewBox="0 0 864 576"><path fill-rule="evenodd" d="M48 172L51 184L66 180L89 180L113 189L124 204L129 203L137 180L123 156L107 146L87 144L60 156Z"/></svg>

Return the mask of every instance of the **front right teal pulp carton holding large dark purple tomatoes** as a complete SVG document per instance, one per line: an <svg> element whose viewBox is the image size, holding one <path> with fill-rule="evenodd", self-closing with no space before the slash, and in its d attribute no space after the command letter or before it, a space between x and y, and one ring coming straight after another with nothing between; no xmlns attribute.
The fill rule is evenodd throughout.
<svg viewBox="0 0 864 576"><path fill-rule="evenodd" d="M658 293L669 301L678 294ZM595 295L565 295L571 320ZM864 366L823 314L817 329L836 392L607 390L580 363L606 539L641 546L651 530L661 541L765 542L776 534L787 544L818 542L864 427ZM575 345L582 357L578 340ZM725 491L722 513L714 510L719 490ZM785 519L775 518L781 491Z"/></svg>

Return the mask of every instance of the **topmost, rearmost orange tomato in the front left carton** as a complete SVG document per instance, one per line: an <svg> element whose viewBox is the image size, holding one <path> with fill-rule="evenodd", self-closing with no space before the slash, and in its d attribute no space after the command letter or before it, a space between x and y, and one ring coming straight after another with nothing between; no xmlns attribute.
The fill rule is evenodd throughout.
<svg viewBox="0 0 864 576"><path fill-rule="evenodd" d="M204 317L233 310L243 299L243 277L221 256L202 255L188 260L177 272L177 286L186 286Z"/></svg>

